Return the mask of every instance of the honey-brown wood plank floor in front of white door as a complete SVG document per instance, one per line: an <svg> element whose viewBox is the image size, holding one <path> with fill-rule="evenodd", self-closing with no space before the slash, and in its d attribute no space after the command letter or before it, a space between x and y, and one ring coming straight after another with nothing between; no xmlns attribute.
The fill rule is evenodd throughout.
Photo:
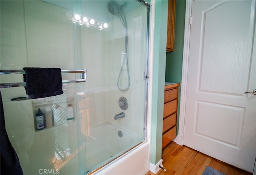
<svg viewBox="0 0 256 175"><path fill-rule="evenodd" d="M194 149L180 146L175 142L171 142L163 149L162 159L166 171L161 169L156 175L202 175L206 166L211 166L226 175L252 175ZM155 174L148 172L146 175Z"/></svg>

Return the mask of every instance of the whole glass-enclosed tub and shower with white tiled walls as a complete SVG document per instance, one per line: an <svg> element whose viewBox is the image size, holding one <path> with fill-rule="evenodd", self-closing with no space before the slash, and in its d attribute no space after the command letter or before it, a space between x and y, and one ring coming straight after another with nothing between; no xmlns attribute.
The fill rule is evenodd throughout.
<svg viewBox="0 0 256 175"><path fill-rule="evenodd" d="M24 174L118 174L123 163L145 164L150 5L0 3L4 120ZM60 68L63 92L30 98L25 67ZM32 74L36 90L40 77Z"/></svg>

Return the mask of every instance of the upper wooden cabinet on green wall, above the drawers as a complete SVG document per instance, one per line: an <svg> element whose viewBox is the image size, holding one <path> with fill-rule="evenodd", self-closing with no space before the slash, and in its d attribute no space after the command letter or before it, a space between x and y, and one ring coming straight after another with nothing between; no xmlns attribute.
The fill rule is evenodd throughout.
<svg viewBox="0 0 256 175"><path fill-rule="evenodd" d="M176 0L169 0L166 51L173 51L174 49L175 12Z"/></svg>

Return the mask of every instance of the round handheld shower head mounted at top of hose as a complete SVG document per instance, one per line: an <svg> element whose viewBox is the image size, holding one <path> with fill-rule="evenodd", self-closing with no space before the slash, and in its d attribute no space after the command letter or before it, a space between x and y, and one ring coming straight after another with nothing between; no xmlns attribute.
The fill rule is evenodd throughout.
<svg viewBox="0 0 256 175"><path fill-rule="evenodd" d="M122 6L120 6L116 1L111 0L108 2L108 11L114 15L114 16L119 16L124 28L127 28L126 24L126 17L123 12L123 8L127 6L127 3L124 2Z"/></svg>

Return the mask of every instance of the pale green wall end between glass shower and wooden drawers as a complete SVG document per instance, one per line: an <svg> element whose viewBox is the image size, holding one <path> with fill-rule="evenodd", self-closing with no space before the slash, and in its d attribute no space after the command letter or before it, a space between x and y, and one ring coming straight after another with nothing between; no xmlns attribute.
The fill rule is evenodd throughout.
<svg viewBox="0 0 256 175"><path fill-rule="evenodd" d="M153 95L151 124L151 156L154 165L162 158L162 128L164 112L164 81L166 64L166 34L168 1L156 0L154 31Z"/></svg>

